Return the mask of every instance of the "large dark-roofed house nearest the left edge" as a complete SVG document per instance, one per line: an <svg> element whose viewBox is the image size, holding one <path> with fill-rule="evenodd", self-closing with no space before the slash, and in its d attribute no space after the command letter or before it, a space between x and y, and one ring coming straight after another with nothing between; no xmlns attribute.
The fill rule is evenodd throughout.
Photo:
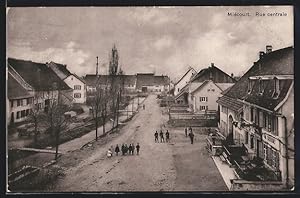
<svg viewBox="0 0 300 198"><path fill-rule="evenodd" d="M37 110L48 111L52 102L57 101L58 98L67 105L72 103L72 89L47 64L8 58L7 68L10 74L8 77L14 78L14 80L8 81L8 93L13 92L11 90L12 86L15 86L15 81L17 81L21 87L32 95L31 99L17 99L16 106L18 108L24 106L26 110L22 110L19 113L20 115L16 112L16 115L14 115L15 121L25 120L33 105ZM24 89L22 92L24 92ZM12 105L14 107L14 102ZM13 111L13 109L10 109L10 111ZM11 115L12 112L9 113Z"/></svg>

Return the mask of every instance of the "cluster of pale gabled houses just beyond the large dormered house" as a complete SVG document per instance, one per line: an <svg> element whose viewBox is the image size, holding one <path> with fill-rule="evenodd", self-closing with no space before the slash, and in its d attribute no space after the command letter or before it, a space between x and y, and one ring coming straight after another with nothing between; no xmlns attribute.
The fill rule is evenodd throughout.
<svg viewBox="0 0 300 198"><path fill-rule="evenodd" d="M189 111L197 113L217 111L216 101L221 92L231 87L236 80L229 76L214 63L199 72L189 67L186 73L175 83L175 103L187 105Z"/></svg>

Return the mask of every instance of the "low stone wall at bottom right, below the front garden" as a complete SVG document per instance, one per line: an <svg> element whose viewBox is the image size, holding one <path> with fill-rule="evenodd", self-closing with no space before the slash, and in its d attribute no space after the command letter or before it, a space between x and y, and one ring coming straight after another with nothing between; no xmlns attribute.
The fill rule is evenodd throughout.
<svg viewBox="0 0 300 198"><path fill-rule="evenodd" d="M281 181L246 181L242 179L232 179L232 191L281 191L284 184Z"/></svg>

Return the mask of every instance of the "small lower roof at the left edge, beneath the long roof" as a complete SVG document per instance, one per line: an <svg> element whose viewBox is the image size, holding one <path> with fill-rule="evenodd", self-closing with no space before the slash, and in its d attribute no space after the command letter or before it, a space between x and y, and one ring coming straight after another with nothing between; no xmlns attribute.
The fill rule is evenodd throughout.
<svg viewBox="0 0 300 198"><path fill-rule="evenodd" d="M8 73L7 96L10 100L33 97L10 73Z"/></svg>

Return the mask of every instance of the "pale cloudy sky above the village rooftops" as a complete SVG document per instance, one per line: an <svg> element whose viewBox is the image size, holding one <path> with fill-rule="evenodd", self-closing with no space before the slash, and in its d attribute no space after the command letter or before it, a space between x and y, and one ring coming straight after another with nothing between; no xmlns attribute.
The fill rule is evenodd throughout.
<svg viewBox="0 0 300 198"><path fill-rule="evenodd" d="M249 12L251 16L228 16ZM255 16L285 12L287 16ZM178 78L214 63L228 74L245 72L266 45L292 46L292 7L10 8L7 56L67 64L94 74L96 56L107 72L115 43L126 74L153 72Z"/></svg>

